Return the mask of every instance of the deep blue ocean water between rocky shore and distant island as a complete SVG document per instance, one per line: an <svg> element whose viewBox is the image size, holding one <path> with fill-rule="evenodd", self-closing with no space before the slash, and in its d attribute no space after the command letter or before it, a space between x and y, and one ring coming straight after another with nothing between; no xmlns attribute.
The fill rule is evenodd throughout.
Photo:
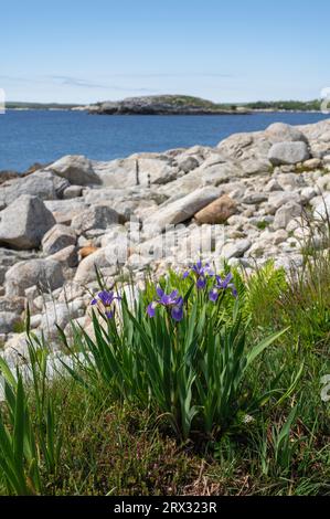
<svg viewBox="0 0 330 519"><path fill-rule="evenodd" d="M13 112L0 115L0 170L24 171L64 155L110 160L139 151L164 151L194 145L215 146L239 131L272 123L305 125L322 114L258 113L222 116L92 116L81 112Z"/></svg>

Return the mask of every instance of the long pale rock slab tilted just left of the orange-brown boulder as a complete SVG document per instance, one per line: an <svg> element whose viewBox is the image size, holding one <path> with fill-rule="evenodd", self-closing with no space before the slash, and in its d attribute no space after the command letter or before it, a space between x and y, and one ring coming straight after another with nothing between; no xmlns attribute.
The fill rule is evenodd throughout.
<svg viewBox="0 0 330 519"><path fill-rule="evenodd" d="M205 205L213 202L213 200L216 200L219 194L220 190L216 188L198 189L187 197L160 208L145 221L145 227L162 231L167 225L184 222L205 208Z"/></svg>

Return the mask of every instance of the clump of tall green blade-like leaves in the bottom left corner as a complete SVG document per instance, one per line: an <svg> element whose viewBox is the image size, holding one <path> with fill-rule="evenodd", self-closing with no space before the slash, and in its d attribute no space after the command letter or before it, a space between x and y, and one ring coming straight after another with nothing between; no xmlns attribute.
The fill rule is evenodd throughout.
<svg viewBox="0 0 330 519"><path fill-rule="evenodd" d="M4 402L0 409L0 469L10 495L41 494L41 472L45 469L49 475L56 475L62 448L62 435L57 431L52 393L47 388L47 353L44 349L36 350L32 337L29 339L28 383L23 384L19 369L14 374L0 358L0 372L4 379Z"/></svg>

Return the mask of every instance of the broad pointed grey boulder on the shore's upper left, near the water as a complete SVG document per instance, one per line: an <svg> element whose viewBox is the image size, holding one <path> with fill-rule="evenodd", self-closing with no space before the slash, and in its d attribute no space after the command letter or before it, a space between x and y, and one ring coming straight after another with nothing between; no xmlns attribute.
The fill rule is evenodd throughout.
<svg viewBox="0 0 330 519"><path fill-rule="evenodd" d="M47 170L54 171L72 184L89 186L100 183L99 177L95 173L89 159L81 155L67 155L50 165Z"/></svg>

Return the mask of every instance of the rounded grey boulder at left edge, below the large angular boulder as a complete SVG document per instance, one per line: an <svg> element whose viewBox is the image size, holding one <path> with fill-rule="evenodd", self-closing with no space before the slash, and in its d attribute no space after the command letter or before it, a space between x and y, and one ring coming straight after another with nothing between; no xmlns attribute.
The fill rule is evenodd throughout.
<svg viewBox="0 0 330 519"><path fill-rule="evenodd" d="M54 260L28 260L13 265L6 274L4 288L9 297L24 296L33 285L42 292L54 290L63 285L62 266Z"/></svg>

